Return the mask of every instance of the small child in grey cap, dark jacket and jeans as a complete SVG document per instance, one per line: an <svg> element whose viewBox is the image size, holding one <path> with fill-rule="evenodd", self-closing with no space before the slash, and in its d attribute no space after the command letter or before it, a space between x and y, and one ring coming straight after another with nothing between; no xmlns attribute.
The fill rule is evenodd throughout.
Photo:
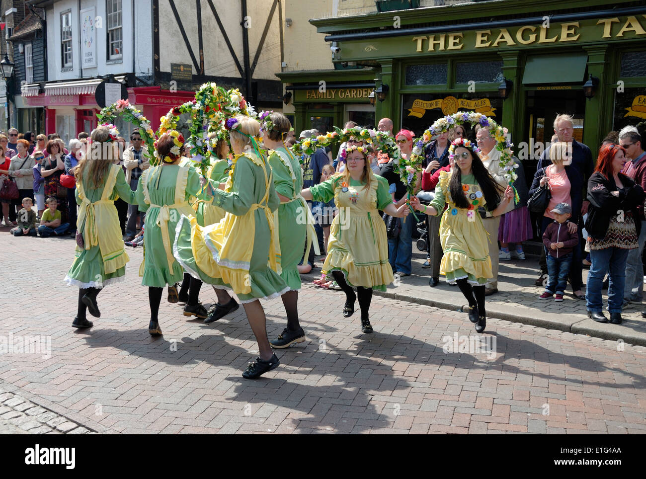
<svg viewBox="0 0 646 479"><path fill-rule="evenodd" d="M550 223L543 233L543 244L547 250L548 283L545 292L539 296L541 300L552 298L563 301L563 293L567 286L567 275L572 262L572 250L579 244L578 234L568 231L568 218L572 216L572 208L567 203L559 203L551 211L554 222Z"/></svg>

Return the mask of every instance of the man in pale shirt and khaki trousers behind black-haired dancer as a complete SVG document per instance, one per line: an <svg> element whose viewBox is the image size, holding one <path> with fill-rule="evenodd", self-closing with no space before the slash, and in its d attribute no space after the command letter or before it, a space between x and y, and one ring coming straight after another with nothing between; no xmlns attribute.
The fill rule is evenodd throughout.
<svg viewBox="0 0 646 479"><path fill-rule="evenodd" d="M483 161L485 168L494 178L496 183L503 189L507 187L507 180L503 168L500 167L500 150L495 148L495 138L491 136L488 127L475 127L475 139L478 148L480 148L480 159ZM509 212L514 209L514 201L510 201L505 211ZM487 281L485 287L485 296L490 296L498 292L498 227L500 225L500 216L492 216L491 212L486 212L486 218L483 218L483 225L489 237L489 257L491 258L491 270L494 277Z"/></svg>

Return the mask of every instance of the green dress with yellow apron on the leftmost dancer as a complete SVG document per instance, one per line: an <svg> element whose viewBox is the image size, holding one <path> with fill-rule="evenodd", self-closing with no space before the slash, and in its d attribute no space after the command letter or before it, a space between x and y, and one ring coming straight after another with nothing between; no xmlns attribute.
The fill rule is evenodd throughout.
<svg viewBox="0 0 646 479"><path fill-rule="evenodd" d="M129 260L123 249L114 200L121 198L135 205L136 199L119 165L111 165L103 184L98 188L85 189L87 183L86 170L76 188L76 203L81 207L76 224L78 231L83 234L85 248L76 246L74 262L67 272L65 283L79 288L101 289L125 280L125 263ZM87 214L89 211L90 214ZM105 263L110 272L105 272Z"/></svg>

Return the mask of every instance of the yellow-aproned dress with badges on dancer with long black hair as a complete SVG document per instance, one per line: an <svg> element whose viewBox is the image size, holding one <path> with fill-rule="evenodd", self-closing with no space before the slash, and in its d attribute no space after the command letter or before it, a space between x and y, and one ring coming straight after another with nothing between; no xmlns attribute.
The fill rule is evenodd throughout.
<svg viewBox="0 0 646 479"><path fill-rule="evenodd" d="M458 208L448 190L449 179L448 172L440 173L439 183L435 187L435 198L430 203L430 206L439 212L444 209L444 204L448 203L440 223L440 244L444 250L440 272L446 275L446 281L449 283L466 278L474 285L484 285L488 278L494 276L489 258L490 238L487 237L482 218L477 211L479 207L485 207L485 195L475 182L473 174L463 175L462 189L470 207Z"/></svg>

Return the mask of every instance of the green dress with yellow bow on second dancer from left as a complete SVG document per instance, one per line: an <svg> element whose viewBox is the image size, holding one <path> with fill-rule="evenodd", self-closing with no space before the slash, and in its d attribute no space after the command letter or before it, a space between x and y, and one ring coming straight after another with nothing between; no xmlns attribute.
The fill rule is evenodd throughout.
<svg viewBox="0 0 646 479"><path fill-rule="evenodd" d="M188 201L191 196L207 199L208 195L208 185L200 185L200 172L188 165L159 165L141 174L137 202L139 210L146 212L142 285L163 288L182 281L182 266L172 252L177 223L182 215L194 214Z"/></svg>

